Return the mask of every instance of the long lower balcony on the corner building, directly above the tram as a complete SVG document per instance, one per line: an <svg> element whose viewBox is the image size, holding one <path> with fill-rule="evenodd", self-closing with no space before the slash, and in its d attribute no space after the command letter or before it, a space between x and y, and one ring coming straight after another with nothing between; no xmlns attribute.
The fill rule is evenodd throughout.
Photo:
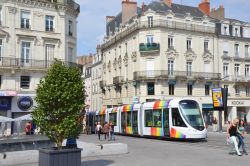
<svg viewBox="0 0 250 166"><path fill-rule="evenodd" d="M154 79L185 79L185 80L220 80L220 73L187 72L152 70L134 72L134 80L154 80Z"/></svg>

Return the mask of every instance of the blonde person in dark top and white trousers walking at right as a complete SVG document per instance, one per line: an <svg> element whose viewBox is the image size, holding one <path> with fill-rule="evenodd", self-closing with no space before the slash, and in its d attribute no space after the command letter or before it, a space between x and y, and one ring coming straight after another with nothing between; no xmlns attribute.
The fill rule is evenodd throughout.
<svg viewBox="0 0 250 166"><path fill-rule="evenodd" d="M230 144L232 144L232 149L229 152L229 154L235 154L235 151L238 156L241 156L242 154L239 151L238 148L238 142L237 142L237 125L239 123L238 119L234 119L229 128L227 129L227 139L230 140Z"/></svg>

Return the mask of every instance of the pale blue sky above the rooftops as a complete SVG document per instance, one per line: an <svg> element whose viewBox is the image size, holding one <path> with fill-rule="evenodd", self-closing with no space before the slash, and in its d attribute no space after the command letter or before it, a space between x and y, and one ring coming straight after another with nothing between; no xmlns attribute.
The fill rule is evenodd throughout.
<svg viewBox="0 0 250 166"><path fill-rule="evenodd" d="M159 0L134 0L138 6ZM173 3L198 6L202 0L173 0ZM121 12L122 0L75 0L81 6L77 23L77 55L96 53L105 35L106 16L116 16ZM210 0L211 8L223 5L227 18L250 22L250 0Z"/></svg>

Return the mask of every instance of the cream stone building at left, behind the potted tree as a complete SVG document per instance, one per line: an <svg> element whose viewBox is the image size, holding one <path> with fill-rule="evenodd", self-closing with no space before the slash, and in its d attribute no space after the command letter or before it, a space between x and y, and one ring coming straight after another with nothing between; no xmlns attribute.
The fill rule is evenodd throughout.
<svg viewBox="0 0 250 166"><path fill-rule="evenodd" d="M0 115L32 111L35 90L54 59L76 63L74 0L1 0Z"/></svg>

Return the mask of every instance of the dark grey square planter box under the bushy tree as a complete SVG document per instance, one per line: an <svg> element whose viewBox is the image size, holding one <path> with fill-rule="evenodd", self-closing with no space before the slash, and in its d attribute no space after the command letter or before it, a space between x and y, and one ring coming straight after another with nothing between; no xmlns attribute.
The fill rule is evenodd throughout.
<svg viewBox="0 0 250 166"><path fill-rule="evenodd" d="M39 149L39 166L81 166L82 149Z"/></svg>

